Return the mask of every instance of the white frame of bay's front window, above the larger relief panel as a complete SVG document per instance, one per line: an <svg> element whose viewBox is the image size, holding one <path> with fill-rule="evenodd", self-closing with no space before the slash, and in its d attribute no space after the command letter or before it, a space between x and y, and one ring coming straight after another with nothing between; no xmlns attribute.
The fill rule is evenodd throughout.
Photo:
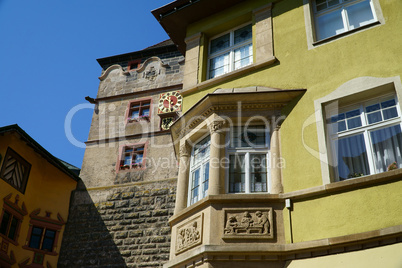
<svg viewBox="0 0 402 268"><path fill-rule="evenodd" d="M252 127L253 125L248 125L247 127ZM256 125L257 126L257 125ZM228 166L225 169L225 184L226 184L226 193L227 194L267 194L271 191L271 172L270 172L270 142L271 142L271 132L269 126L265 126L265 146L258 146L258 147L235 147L233 146L232 142L232 131L233 128L236 127L243 127L243 126L233 126L230 128L229 132L226 135L226 144L229 144L226 150L226 159L228 162ZM229 172L229 165L230 165L230 156L236 154L245 154L244 163L245 166L245 189L243 192L230 192L230 172ZM251 154L264 154L267 161L267 191L266 192L251 192L251 167L250 167L250 155Z"/></svg>

